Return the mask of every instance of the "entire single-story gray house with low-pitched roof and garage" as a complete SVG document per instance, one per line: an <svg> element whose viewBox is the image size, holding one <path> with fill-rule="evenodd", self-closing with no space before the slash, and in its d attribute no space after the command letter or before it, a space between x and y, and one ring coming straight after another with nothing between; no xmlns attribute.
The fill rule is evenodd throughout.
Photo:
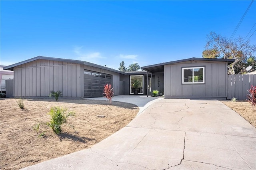
<svg viewBox="0 0 256 170"><path fill-rule="evenodd" d="M128 95L137 79L141 95L158 90L165 98L225 99L227 66L232 62L190 58L122 72L86 61L38 56L4 69L14 71L15 97L48 97L51 90L62 91L63 97L101 97L106 83L112 84L115 95Z"/></svg>

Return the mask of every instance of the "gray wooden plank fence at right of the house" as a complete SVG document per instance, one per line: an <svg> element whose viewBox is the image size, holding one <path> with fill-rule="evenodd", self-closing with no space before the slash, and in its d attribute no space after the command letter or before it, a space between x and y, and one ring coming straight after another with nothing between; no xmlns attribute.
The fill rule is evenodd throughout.
<svg viewBox="0 0 256 170"><path fill-rule="evenodd" d="M256 86L256 75L228 75L228 97L232 99L235 97L237 100L247 99L248 89L251 85Z"/></svg>

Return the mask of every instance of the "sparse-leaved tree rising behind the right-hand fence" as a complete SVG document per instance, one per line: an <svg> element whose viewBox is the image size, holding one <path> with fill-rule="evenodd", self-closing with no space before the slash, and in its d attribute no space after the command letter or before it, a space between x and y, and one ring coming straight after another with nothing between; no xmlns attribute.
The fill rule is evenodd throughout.
<svg viewBox="0 0 256 170"><path fill-rule="evenodd" d="M235 59L233 63L228 65L230 74L239 74L244 70L244 64L248 57L256 51L256 45L250 45L250 41L245 41L239 37L234 40L218 35L215 32L210 32L207 35L205 50L202 56L205 58L226 58Z"/></svg>

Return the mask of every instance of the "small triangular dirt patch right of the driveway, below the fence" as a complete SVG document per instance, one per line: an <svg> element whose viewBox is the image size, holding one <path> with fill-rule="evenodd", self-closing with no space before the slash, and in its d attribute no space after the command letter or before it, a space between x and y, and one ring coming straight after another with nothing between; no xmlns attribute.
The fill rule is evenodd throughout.
<svg viewBox="0 0 256 170"><path fill-rule="evenodd" d="M247 101L221 101L256 127L256 111L252 111L252 105Z"/></svg>

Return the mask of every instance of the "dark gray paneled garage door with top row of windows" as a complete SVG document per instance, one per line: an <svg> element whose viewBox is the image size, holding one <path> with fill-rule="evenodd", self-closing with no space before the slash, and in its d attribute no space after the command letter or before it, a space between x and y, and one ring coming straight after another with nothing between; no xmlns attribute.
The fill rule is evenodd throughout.
<svg viewBox="0 0 256 170"><path fill-rule="evenodd" d="M102 97L106 84L112 84L112 75L84 70L84 98Z"/></svg>

